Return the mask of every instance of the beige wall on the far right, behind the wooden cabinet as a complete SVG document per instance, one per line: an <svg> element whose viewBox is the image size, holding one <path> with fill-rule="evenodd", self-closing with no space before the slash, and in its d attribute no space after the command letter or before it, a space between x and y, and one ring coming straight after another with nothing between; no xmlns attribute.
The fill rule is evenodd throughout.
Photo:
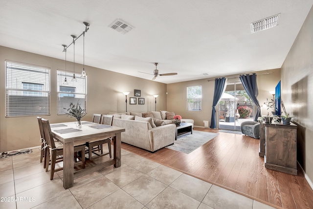
<svg viewBox="0 0 313 209"><path fill-rule="evenodd" d="M286 111L298 125L297 160L313 180L313 7L282 66L281 87Z"/></svg>

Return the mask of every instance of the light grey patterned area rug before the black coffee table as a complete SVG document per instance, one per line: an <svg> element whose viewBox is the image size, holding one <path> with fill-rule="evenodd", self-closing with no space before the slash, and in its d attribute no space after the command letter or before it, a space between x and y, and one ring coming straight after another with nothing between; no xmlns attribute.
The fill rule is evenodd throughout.
<svg viewBox="0 0 313 209"><path fill-rule="evenodd" d="M204 131L193 131L192 134L187 133L178 136L174 144L166 146L166 148L189 154L218 135L219 134Z"/></svg>

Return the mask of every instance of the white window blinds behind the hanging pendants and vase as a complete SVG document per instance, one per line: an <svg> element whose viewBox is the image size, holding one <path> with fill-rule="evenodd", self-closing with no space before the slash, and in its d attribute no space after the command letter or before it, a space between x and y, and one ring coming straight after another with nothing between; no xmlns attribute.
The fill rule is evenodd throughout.
<svg viewBox="0 0 313 209"><path fill-rule="evenodd" d="M58 82L58 115L64 115L69 108L69 103L80 104L87 112L87 77L76 76L76 81L72 81L73 72L67 74L63 70L57 70ZM64 84L65 76L67 83Z"/></svg>

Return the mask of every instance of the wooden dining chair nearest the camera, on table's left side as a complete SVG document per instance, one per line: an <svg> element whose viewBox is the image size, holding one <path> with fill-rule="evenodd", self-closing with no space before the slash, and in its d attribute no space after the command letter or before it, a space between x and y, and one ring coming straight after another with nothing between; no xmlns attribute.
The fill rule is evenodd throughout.
<svg viewBox="0 0 313 209"><path fill-rule="evenodd" d="M63 144L60 141L54 141L49 120L41 119L41 121L42 121L43 130L44 130L45 140L49 146L49 149L46 152L46 156L47 156L47 159L50 159L51 157L50 180L52 180L55 172L63 170L63 167L55 169L57 157L63 155ZM81 153L81 158L79 159L81 162L74 163L74 166L82 164L82 167L85 168L85 146L86 146L85 143L74 146L74 153L77 153L77 152ZM75 162L76 162L76 156L75 156ZM45 163L46 163L45 171L48 171L49 160L46 160Z"/></svg>

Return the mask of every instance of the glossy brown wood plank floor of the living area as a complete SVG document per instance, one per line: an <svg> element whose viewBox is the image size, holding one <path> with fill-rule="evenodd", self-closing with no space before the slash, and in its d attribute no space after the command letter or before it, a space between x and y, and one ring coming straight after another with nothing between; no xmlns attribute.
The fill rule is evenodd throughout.
<svg viewBox="0 0 313 209"><path fill-rule="evenodd" d="M190 154L167 148L150 153L125 143L122 149L271 206L313 209L313 190L301 170L298 168L294 176L265 168L264 158L259 157L258 139L217 129L194 130L219 135Z"/></svg>

